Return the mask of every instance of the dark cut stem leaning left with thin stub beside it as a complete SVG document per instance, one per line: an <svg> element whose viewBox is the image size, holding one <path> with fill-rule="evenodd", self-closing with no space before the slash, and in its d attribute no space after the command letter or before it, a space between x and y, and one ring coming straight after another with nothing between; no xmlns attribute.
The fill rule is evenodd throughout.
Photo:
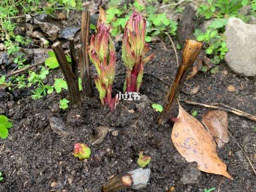
<svg viewBox="0 0 256 192"><path fill-rule="evenodd" d="M71 56L73 58L72 59L72 67L71 67L66 59L64 50L61 46L61 42L58 41L58 42L54 43L52 45L52 48L53 48L55 56L60 64L60 67L64 74L64 77L67 81L71 105L79 106L79 105L81 105L82 101L81 101L81 96L80 96L80 92L78 89L78 77L77 77L76 73L73 72L73 70L76 71L76 68L77 68L77 66L73 66L73 65L76 65L76 59L74 59L75 56L74 56L74 54L71 54ZM74 48L71 48L71 49L74 50ZM72 50L72 52L73 52L73 50Z"/></svg>

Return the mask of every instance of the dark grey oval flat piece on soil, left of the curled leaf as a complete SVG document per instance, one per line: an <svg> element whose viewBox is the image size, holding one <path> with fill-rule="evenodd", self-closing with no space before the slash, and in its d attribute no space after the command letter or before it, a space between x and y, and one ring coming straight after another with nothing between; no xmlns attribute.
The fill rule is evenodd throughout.
<svg viewBox="0 0 256 192"><path fill-rule="evenodd" d="M66 136L69 135L70 133L66 130L65 124L61 118L57 117L50 117L49 118L49 123L50 123L50 128L53 132Z"/></svg>

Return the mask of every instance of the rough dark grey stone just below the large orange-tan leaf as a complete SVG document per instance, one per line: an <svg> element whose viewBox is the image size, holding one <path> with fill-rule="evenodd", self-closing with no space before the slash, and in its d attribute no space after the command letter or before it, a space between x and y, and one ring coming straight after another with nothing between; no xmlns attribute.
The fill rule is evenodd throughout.
<svg viewBox="0 0 256 192"><path fill-rule="evenodd" d="M189 164L183 169L181 182L183 185L198 185L201 179L201 171L196 168L195 164Z"/></svg>

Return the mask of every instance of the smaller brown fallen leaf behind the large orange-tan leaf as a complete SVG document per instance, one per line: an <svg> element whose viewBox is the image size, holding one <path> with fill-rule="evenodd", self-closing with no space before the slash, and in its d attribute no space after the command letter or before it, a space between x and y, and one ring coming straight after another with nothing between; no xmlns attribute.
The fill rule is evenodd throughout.
<svg viewBox="0 0 256 192"><path fill-rule="evenodd" d="M229 142L228 113L226 111L208 111L203 115L202 122L207 131L214 137L219 148Z"/></svg>

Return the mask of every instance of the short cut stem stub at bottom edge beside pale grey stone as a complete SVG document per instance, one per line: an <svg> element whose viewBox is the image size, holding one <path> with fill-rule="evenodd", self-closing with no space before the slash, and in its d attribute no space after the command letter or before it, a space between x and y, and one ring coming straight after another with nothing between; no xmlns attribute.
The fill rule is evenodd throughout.
<svg viewBox="0 0 256 192"><path fill-rule="evenodd" d="M102 192L116 192L120 189L130 188L133 185L131 174L121 174L108 181L103 185Z"/></svg>

